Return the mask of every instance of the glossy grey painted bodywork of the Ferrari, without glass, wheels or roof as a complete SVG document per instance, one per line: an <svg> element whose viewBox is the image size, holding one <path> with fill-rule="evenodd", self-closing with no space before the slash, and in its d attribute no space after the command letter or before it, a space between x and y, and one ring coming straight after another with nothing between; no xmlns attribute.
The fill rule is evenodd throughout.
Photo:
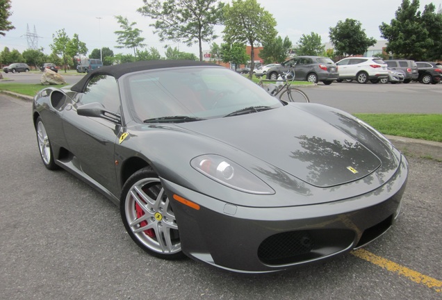
<svg viewBox="0 0 442 300"><path fill-rule="evenodd" d="M77 96L48 88L33 104L56 163L115 203L125 163L136 158L151 165L170 199L179 194L201 206L193 210L172 201L183 252L196 260L238 272L286 269L349 251L366 228L398 215L407 161L379 133L340 110L289 103L201 122L139 124L123 101L122 124L114 124L76 114ZM129 135L120 143L122 133ZM275 194L240 192L200 174L190 160L202 153L239 163ZM270 235L304 228L345 230L351 239L345 247L318 248L318 258L297 263L266 265L256 256Z"/></svg>

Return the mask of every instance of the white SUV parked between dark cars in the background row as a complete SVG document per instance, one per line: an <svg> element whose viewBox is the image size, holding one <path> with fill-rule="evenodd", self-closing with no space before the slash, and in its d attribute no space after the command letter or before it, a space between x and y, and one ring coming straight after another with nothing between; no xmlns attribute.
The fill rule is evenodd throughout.
<svg viewBox="0 0 442 300"><path fill-rule="evenodd" d="M387 64L381 58L351 57L339 60L339 80L356 79L359 83L378 83L382 78L388 78Z"/></svg>

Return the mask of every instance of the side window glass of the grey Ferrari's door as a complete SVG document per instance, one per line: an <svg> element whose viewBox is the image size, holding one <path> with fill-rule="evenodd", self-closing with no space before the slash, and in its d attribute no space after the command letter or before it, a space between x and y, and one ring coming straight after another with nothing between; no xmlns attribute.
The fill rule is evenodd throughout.
<svg viewBox="0 0 442 300"><path fill-rule="evenodd" d="M101 103L106 109L117 113L120 110L120 93L113 76L97 75L90 78L81 103Z"/></svg>

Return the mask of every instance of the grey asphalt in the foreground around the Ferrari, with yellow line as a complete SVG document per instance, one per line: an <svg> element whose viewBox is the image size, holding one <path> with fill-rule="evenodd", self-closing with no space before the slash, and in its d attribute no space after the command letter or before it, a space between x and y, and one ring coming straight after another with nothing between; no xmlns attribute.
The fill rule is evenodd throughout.
<svg viewBox="0 0 442 300"><path fill-rule="evenodd" d="M2 299L442 299L442 163L409 155L398 222L365 247L290 272L246 276L152 258L117 207L42 165L31 103L0 94Z"/></svg>

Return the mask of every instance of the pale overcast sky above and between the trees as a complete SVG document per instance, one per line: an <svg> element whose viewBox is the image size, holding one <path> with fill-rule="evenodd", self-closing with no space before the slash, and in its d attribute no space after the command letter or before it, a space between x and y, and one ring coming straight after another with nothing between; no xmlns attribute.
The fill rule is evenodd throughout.
<svg viewBox="0 0 442 300"><path fill-rule="evenodd" d="M329 28L336 26L338 21L356 19L362 24L369 38L382 40L379 25L382 22L390 24L395 18L395 12L402 0L257 0L261 7L268 10L277 20L277 31L281 38L288 38L296 44L302 35L312 32L321 36L322 42L329 42ZM226 2L226 1L224 1ZM420 0L420 11L425 5L434 3L436 11L442 0ZM76 33L81 42L85 42L88 53L93 49L108 47L114 53L133 53L131 49L117 49L117 35L120 25L116 15L126 17L129 22L136 22L141 36L145 38L147 48L154 47L164 56L164 48L169 45L177 47L179 51L194 53L198 56L197 44L187 47L186 44L167 41L160 42L158 35L153 33L154 28L149 26L154 20L142 16L136 10L143 6L142 0L11 0L9 17L15 29L6 31L6 36L0 35L0 51L4 47L22 52L28 49L26 35L36 33L38 48L44 53L51 53L49 44L52 36L60 29L65 29L69 38ZM35 28L35 31L34 31ZM222 26L216 26L221 35ZM213 40L218 44L222 38ZM203 44L203 50L210 49L211 42Z"/></svg>

